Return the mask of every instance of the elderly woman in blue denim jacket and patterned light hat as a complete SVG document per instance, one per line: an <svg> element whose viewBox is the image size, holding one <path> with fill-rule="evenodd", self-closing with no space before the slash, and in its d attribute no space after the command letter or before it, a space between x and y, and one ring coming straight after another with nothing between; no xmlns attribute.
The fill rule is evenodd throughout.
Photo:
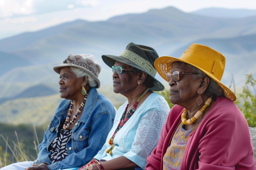
<svg viewBox="0 0 256 170"><path fill-rule="evenodd" d="M101 149L115 118L115 108L97 92L101 67L90 54L70 54L54 67L60 74L58 105L39 144L36 161L13 163L1 170L59 170L81 167Z"/></svg>

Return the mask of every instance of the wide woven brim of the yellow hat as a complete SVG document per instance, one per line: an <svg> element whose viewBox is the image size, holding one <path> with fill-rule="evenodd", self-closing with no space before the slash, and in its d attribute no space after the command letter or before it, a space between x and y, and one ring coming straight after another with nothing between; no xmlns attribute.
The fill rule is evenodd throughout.
<svg viewBox="0 0 256 170"><path fill-rule="evenodd" d="M167 79L167 73L171 72L172 68L173 68L173 63L174 62L184 62L186 64L190 64L198 69L200 69L202 72L204 72L206 75L208 75L209 77L211 77L211 79L213 79L215 82L217 82L220 87L223 89L224 91L224 95L233 100L233 101L236 101L236 95L227 87L225 86L224 84L222 84L222 82L220 82L220 80L218 80L215 76L213 76L211 73L209 73L208 71L198 67L198 66L195 66L194 64L191 64L189 62L186 62L186 61L183 61L183 60L180 60L178 58L175 58L175 57L170 57L170 56L162 56L162 57L159 57L155 60L154 62L154 66L155 66L155 69L157 70L157 73L159 73L159 75L165 79L167 82L168 82L168 79Z"/></svg>

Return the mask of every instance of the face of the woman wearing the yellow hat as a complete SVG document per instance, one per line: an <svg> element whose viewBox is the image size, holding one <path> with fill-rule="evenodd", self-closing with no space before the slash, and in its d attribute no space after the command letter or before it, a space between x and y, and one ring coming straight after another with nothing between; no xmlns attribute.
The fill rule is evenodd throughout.
<svg viewBox="0 0 256 170"><path fill-rule="evenodd" d="M171 72L193 72L186 64L181 62L175 62ZM198 87L200 86L200 79L193 79L193 75L184 74L180 76L180 80L174 81L173 78L169 81L170 86L170 102L172 104L178 104L183 107L188 107L190 104L194 104L198 97Z"/></svg>

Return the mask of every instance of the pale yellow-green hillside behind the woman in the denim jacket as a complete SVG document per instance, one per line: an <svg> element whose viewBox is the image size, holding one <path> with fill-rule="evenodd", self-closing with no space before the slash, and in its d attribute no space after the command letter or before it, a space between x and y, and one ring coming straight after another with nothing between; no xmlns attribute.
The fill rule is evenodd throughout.
<svg viewBox="0 0 256 170"><path fill-rule="evenodd" d="M126 101L123 95L115 94L111 86L104 86L99 92L108 97L116 108ZM43 126L49 124L61 101L59 93L43 97L11 99L0 104L0 122L18 125Z"/></svg>

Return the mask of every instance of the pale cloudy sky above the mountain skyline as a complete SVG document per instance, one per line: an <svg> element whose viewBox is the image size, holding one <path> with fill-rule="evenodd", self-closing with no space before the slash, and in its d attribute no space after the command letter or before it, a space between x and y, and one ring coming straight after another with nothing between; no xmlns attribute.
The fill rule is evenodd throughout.
<svg viewBox="0 0 256 170"><path fill-rule="evenodd" d="M83 19L107 20L115 15L176 7L184 12L209 7L254 9L255 0L0 0L0 39L26 31Z"/></svg>

